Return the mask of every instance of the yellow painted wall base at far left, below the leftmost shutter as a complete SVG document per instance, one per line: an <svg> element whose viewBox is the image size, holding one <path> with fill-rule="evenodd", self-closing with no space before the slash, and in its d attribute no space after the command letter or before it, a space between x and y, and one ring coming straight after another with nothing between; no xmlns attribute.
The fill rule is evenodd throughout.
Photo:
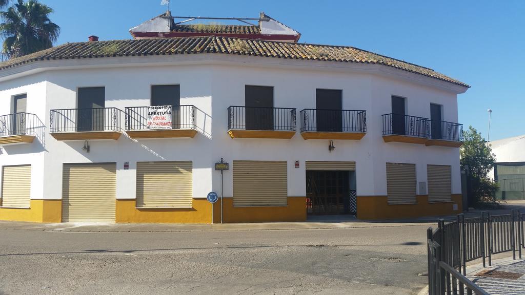
<svg viewBox="0 0 525 295"><path fill-rule="evenodd" d="M0 220L58 223L61 221L61 200L31 200L30 208L0 208Z"/></svg>

